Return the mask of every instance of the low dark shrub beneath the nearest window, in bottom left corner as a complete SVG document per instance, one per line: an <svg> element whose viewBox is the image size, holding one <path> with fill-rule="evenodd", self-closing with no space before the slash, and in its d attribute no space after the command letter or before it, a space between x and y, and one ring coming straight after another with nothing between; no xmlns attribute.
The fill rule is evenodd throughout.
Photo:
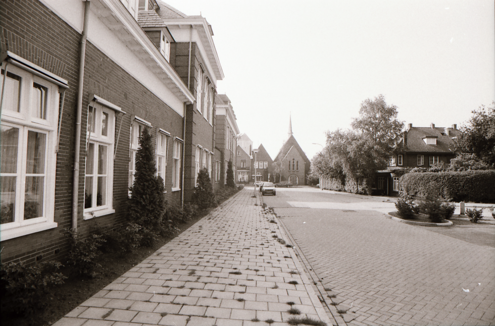
<svg viewBox="0 0 495 326"><path fill-rule="evenodd" d="M17 314L31 314L35 309L43 307L47 303L44 298L49 289L62 284L67 278L57 272L62 266L58 262L44 262L29 267L22 262L1 264L2 306Z"/></svg>

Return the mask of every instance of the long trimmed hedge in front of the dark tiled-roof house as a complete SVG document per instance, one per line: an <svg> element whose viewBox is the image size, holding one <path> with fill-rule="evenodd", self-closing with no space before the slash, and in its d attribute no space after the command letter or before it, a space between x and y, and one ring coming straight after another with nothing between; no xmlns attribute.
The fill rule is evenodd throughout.
<svg viewBox="0 0 495 326"><path fill-rule="evenodd" d="M400 178L400 187L413 196L433 190L455 202L494 203L495 170L406 173Z"/></svg>

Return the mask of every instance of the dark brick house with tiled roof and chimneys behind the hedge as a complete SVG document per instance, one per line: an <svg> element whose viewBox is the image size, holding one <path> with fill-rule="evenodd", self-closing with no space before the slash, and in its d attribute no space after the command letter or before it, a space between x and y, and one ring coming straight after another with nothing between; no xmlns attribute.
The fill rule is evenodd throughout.
<svg viewBox="0 0 495 326"><path fill-rule="evenodd" d="M377 171L373 192L378 195L398 195L399 178L408 169L430 167L435 163L449 164L455 157L454 139L460 136L457 125L451 127L413 127L412 123L402 133L389 167Z"/></svg>

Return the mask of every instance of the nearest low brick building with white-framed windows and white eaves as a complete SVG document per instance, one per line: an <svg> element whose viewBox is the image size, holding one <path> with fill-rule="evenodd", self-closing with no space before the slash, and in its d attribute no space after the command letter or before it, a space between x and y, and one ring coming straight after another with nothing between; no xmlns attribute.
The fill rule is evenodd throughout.
<svg viewBox="0 0 495 326"><path fill-rule="evenodd" d="M140 27L139 9L149 7L2 2L2 262L56 259L67 250L64 229L87 236L122 223L143 128L166 200L181 203L184 111L197 97L169 63L166 26L158 30L163 43Z"/></svg>

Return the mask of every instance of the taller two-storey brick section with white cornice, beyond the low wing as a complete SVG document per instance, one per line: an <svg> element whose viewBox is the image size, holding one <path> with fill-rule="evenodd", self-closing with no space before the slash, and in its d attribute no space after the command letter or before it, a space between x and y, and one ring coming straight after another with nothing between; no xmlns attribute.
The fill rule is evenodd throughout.
<svg viewBox="0 0 495 326"><path fill-rule="evenodd" d="M223 70L213 43L213 29L202 16L188 16L161 0L154 11L173 37L170 64L195 101L186 105L184 200L190 201L199 169L218 174L215 155L215 94ZM151 13L153 14L153 13ZM214 177L211 177L214 182Z"/></svg>

